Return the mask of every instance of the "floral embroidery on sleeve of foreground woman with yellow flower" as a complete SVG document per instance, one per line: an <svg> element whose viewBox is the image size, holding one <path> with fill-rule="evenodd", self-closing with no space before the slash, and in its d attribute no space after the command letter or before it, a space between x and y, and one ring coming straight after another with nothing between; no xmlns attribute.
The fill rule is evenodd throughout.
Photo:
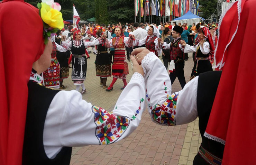
<svg viewBox="0 0 256 165"><path fill-rule="evenodd" d="M129 126L130 118L126 116L116 116L108 111L93 106L94 123L97 128L95 135L99 140L100 145L114 143L126 131Z"/></svg>

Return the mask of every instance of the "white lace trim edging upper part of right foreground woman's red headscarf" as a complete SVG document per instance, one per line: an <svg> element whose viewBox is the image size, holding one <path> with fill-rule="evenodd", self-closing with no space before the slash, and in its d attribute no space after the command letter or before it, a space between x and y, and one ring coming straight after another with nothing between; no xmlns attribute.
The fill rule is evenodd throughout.
<svg viewBox="0 0 256 165"><path fill-rule="evenodd" d="M220 29L220 26L221 26L221 22L224 18L224 16L226 15L227 11L233 6L233 4L235 3L232 3L228 6L228 8L222 13L222 15L220 16L220 22L219 22L219 29ZM225 62L223 62L223 59L224 59L224 54L228 48L228 46L231 44L231 42L233 41L236 33L237 33L237 30L238 30L238 25L239 25L239 22L240 22L240 13L241 13L241 0L238 1L237 3L237 11L238 11L238 23L237 23L237 27L236 27L236 31L235 33L232 35L232 38L230 40L230 42L227 44L226 48L225 48L225 51L223 52L223 55L222 55L222 59L221 61L218 63L218 64L215 64L215 66L213 66L213 68L218 68L219 67L219 70L224 66ZM215 49L215 52L214 52L214 61L216 61L216 52L217 52L217 49L218 49L218 45L219 45L219 35L220 35L220 30L219 30L219 33L218 33L218 42L217 42L217 45L216 45L216 49Z"/></svg>

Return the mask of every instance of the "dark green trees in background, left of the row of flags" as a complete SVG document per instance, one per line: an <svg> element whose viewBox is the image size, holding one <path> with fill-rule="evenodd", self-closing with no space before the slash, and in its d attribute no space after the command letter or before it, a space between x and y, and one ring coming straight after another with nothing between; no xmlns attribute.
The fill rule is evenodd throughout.
<svg viewBox="0 0 256 165"><path fill-rule="evenodd" d="M41 0L25 0L36 7ZM73 4L81 19L95 17L99 24L133 22L134 0L55 0L64 20L73 20Z"/></svg>

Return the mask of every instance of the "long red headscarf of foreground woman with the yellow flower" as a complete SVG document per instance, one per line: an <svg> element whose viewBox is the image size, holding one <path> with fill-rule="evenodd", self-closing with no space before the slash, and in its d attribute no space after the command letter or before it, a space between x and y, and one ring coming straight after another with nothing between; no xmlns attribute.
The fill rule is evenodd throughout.
<svg viewBox="0 0 256 165"><path fill-rule="evenodd" d="M33 37L19 33L33 31ZM0 2L0 164L21 164L32 64L43 54L43 21L24 1Z"/></svg>

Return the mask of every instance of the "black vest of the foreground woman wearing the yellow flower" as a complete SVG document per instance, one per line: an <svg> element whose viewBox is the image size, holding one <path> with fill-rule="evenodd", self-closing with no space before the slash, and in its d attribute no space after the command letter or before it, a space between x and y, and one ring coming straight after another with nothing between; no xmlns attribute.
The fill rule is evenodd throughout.
<svg viewBox="0 0 256 165"><path fill-rule="evenodd" d="M44 150L43 132L48 108L59 90L45 88L33 80L28 82L28 105L22 165L69 165L72 147L63 147L54 159Z"/></svg>

